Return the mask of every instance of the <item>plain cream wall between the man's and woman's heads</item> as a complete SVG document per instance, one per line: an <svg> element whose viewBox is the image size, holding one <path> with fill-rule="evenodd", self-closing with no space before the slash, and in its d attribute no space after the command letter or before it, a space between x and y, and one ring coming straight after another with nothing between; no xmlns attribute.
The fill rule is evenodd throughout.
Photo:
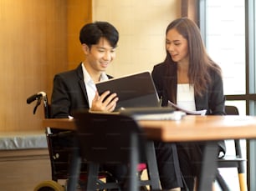
<svg viewBox="0 0 256 191"><path fill-rule="evenodd" d="M180 0L94 0L93 20L105 20L120 32L115 61L108 68L114 77L151 71L165 56L165 31L181 15Z"/></svg>

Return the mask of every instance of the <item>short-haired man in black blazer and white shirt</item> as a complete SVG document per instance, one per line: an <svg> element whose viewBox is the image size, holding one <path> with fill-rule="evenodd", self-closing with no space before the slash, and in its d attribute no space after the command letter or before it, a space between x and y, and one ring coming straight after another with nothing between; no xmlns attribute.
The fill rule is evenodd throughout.
<svg viewBox="0 0 256 191"><path fill-rule="evenodd" d="M77 109L111 112L118 101L115 93L99 95L95 87L95 83L112 78L105 70L115 58L118 31L107 22L89 23L80 30L79 40L84 62L74 70L55 75L51 118L69 118Z"/></svg>

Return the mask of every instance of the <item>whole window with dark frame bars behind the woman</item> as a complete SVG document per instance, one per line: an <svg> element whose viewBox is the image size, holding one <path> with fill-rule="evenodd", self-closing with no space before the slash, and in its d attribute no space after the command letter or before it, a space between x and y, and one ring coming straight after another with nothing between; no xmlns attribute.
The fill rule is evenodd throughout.
<svg viewBox="0 0 256 191"><path fill-rule="evenodd" d="M254 0L199 0L200 29L207 53L223 69L227 104L256 114ZM247 143L248 188L256 190L256 143Z"/></svg>

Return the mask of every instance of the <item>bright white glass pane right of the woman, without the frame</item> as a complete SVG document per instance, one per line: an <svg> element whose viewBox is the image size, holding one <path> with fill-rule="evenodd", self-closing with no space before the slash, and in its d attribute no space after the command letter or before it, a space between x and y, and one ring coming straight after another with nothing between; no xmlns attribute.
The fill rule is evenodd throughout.
<svg viewBox="0 0 256 191"><path fill-rule="evenodd" d="M203 38L207 53L223 70L225 95L246 93L245 5L243 0L205 0ZM228 10L228 11L227 11ZM246 113L245 101L227 102Z"/></svg>

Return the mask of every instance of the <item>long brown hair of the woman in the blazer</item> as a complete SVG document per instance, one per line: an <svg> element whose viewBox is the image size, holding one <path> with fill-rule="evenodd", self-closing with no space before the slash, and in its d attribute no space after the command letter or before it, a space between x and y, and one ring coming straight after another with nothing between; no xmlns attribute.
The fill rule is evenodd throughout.
<svg viewBox="0 0 256 191"><path fill-rule="evenodd" d="M194 86L195 94L200 96L206 90L207 83L211 82L210 71L214 70L221 75L221 68L207 55L200 30L196 23L188 18L178 18L168 25L166 33L173 28L183 38L187 39L187 51L189 54L188 79L189 83ZM165 63L166 66L176 64L167 51ZM166 71L168 72L168 69Z"/></svg>

